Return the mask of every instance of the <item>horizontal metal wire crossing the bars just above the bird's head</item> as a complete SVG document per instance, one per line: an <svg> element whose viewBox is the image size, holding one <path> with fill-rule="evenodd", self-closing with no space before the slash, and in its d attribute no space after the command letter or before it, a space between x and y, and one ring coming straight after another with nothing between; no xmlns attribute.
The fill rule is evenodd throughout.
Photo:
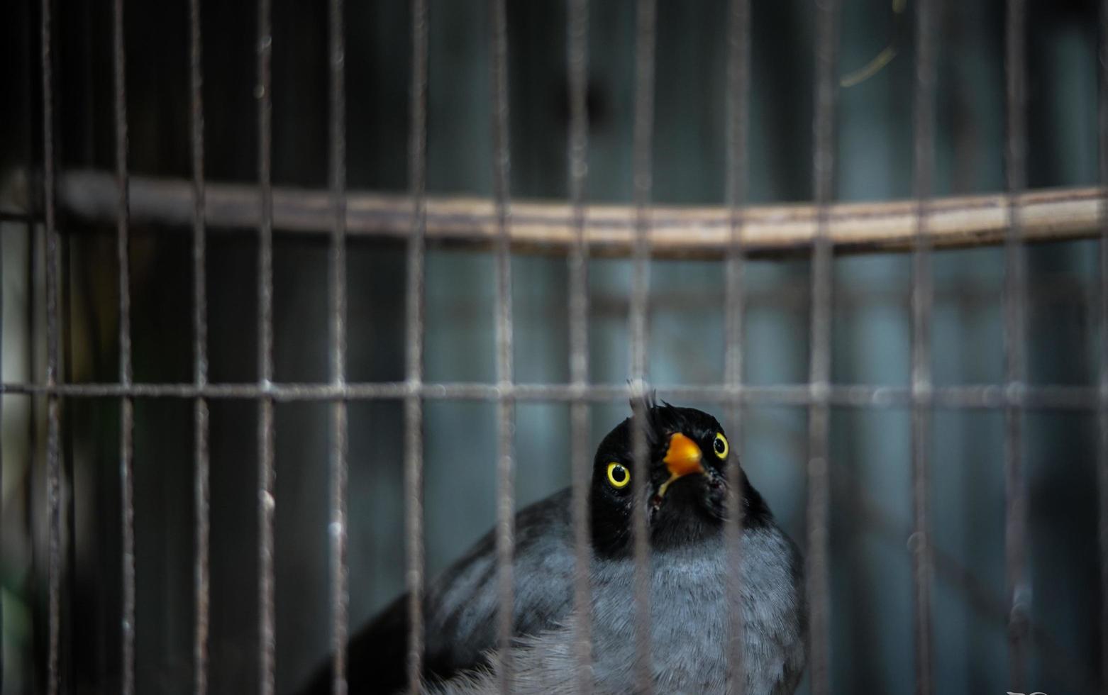
<svg viewBox="0 0 1108 695"><path fill-rule="evenodd" d="M767 386L653 386L659 397L727 403L733 399L751 406L808 406L828 402L835 407L911 407L948 409L1026 408L1038 410L1095 410L1099 407L1099 389L1095 386L1016 386L975 384L933 387L913 398L910 387L874 385L830 386L827 396L812 395L811 385L774 384ZM4 382L0 395L45 395L66 398L225 398L278 401L300 400L387 400L419 396L433 400L499 400L510 398L527 401L616 402L627 398L627 386L619 384L512 384L495 385L470 381L410 384L406 381L298 384L47 384Z"/></svg>

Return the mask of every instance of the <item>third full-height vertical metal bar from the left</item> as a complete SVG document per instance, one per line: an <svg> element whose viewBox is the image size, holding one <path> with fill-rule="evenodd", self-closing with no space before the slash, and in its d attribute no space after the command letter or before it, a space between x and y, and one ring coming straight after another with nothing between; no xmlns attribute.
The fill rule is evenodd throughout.
<svg viewBox="0 0 1108 695"><path fill-rule="evenodd" d="M204 73L201 40L201 0L188 0L189 99L192 106L193 155L193 380L196 388L207 386L207 247L204 212ZM196 558L193 568L195 583L195 625L193 633L194 693L207 695L211 490L208 476L208 403L197 397L193 401L195 439L194 495L196 504Z"/></svg>

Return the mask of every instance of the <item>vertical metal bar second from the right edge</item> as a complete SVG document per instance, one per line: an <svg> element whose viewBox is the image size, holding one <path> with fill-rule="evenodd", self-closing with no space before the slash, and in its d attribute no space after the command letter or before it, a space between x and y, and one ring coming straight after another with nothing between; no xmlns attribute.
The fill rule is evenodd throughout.
<svg viewBox="0 0 1108 695"><path fill-rule="evenodd" d="M1026 493L1023 478L1024 311L1027 295L1025 259L1016 196L1026 187L1024 0L1005 4L1005 78L1007 133L1005 180L1008 193L1008 231L1004 243L1004 379L1008 402L1004 409L1005 574L1008 593L1008 687L1023 689L1030 589L1026 575Z"/></svg>

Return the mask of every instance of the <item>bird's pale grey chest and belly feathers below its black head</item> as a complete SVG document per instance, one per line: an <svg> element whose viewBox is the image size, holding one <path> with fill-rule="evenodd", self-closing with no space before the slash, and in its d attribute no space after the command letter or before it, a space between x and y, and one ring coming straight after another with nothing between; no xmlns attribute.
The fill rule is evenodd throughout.
<svg viewBox="0 0 1108 695"><path fill-rule="evenodd" d="M741 546L741 673L746 695L796 691L804 668L804 603L800 559L773 525L748 529ZM650 674L666 694L727 693L729 611L727 555L721 540L655 552L650 560ZM636 665L635 565L628 559L594 560L592 568L594 692L630 695L642 682ZM558 627L521 636L511 650L512 692L576 693L581 664L574 640L581 615ZM499 693L492 667L464 674L429 692Z"/></svg>

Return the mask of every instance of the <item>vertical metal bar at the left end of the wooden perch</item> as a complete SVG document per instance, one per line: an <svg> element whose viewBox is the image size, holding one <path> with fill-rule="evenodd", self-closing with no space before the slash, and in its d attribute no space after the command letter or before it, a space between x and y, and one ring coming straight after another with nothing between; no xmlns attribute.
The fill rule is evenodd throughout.
<svg viewBox="0 0 1108 695"><path fill-rule="evenodd" d="M54 214L54 104L53 28L51 0L41 4L42 65L42 203L45 208L47 243L47 386L58 385L58 227ZM58 396L47 397L47 505L49 513L47 693L59 689L58 654L61 630L61 413Z"/></svg>

